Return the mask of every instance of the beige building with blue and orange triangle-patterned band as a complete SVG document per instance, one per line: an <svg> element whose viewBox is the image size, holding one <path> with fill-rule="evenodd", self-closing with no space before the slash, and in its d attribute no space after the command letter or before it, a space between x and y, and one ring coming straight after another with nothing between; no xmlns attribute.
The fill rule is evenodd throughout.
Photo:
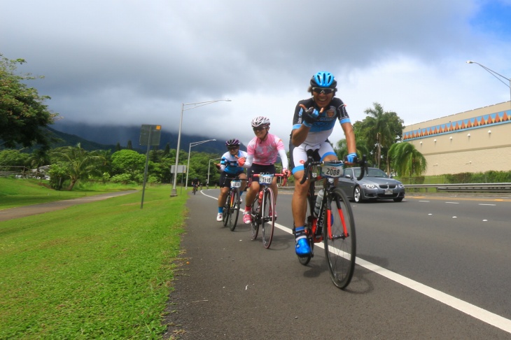
<svg viewBox="0 0 511 340"><path fill-rule="evenodd" d="M426 157L426 176L510 171L511 101L409 125L402 140Z"/></svg>

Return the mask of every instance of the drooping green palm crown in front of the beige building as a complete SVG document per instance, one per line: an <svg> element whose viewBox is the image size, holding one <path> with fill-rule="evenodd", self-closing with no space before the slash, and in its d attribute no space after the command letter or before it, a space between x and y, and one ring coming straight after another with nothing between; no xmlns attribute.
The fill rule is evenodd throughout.
<svg viewBox="0 0 511 340"><path fill-rule="evenodd" d="M398 172L399 176L420 176L428 163L426 158L411 143L395 143L388 150L392 167Z"/></svg>

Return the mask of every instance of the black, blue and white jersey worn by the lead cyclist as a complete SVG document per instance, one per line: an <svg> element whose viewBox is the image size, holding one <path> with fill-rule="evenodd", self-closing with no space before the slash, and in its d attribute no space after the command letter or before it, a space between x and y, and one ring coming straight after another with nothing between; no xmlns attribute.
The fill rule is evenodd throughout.
<svg viewBox="0 0 511 340"><path fill-rule="evenodd" d="M299 129L302 126L302 114L304 110L300 104L303 104L306 108L314 107L318 112L321 110L321 108L316 105L313 98L298 101L295 108L295 115L293 116L293 130ZM335 120L339 120L340 124L351 122L344 103L337 97L333 97L332 101L330 101L330 105L323 110L323 113L320 113L318 120L312 125L303 143L308 146L317 146L319 143L326 141L330 134L332 134Z"/></svg>

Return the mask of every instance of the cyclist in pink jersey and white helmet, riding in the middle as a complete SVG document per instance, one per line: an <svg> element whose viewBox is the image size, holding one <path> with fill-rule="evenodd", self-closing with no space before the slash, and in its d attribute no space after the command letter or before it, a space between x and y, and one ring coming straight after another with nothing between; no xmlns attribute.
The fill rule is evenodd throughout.
<svg viewBox="0 0 511 340"><path fill-rule="evenodd" d="M280 156L282 161L282 173L288 176L288 156L284 149L284 144L279 137L270 134L269 118L264 116L256 117L252 120L252 129L255 137L248 143L246 148L246 160L240 158L238 164L248 168L248 177L252 178L250 190L246 194L245 213L243 222L248 225L252 222L251 209L255 195L259 192L259 178L253 178L255 173L275 173L276 157ZM271 185L274 192L275 204L277 196L276 177L273 178ZM276 218L276 211L270 211Z"/></svg>

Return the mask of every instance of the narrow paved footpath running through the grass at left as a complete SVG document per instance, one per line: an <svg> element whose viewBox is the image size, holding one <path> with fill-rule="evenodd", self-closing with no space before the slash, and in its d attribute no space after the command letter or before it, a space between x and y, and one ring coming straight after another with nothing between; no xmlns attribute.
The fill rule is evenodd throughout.
<svg viewBox="0 0 511 340"><path fill-rule="evenodd" d="M13 218L22 218L30 215L38 215L40 213L48 213L50 211L61 210L76 204L84 204L92 201L109 199L111 197L123 196L125 194L133 194L137 191L138 190L107 192L106 194L96 194L93 196L79 197L76 199L65 199L63 201L52 201L48 203L34 204L31 206L19 206L18 208L3 209L0 210L0 222L12 220Z"/></svg>

